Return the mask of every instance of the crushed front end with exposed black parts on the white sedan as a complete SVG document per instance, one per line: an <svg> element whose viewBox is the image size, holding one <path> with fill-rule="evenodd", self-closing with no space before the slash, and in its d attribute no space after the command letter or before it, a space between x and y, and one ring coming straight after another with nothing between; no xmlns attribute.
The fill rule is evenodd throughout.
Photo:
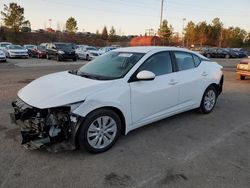
<svg viewBox="0 0 250 188"><path fill-rule="evenodd" d="M79 118L71 107L38 109L21 99L12 103L13 123L19 125L22 145L27 149L46 148L50 151L75 149L75 133Z"/></svg>

